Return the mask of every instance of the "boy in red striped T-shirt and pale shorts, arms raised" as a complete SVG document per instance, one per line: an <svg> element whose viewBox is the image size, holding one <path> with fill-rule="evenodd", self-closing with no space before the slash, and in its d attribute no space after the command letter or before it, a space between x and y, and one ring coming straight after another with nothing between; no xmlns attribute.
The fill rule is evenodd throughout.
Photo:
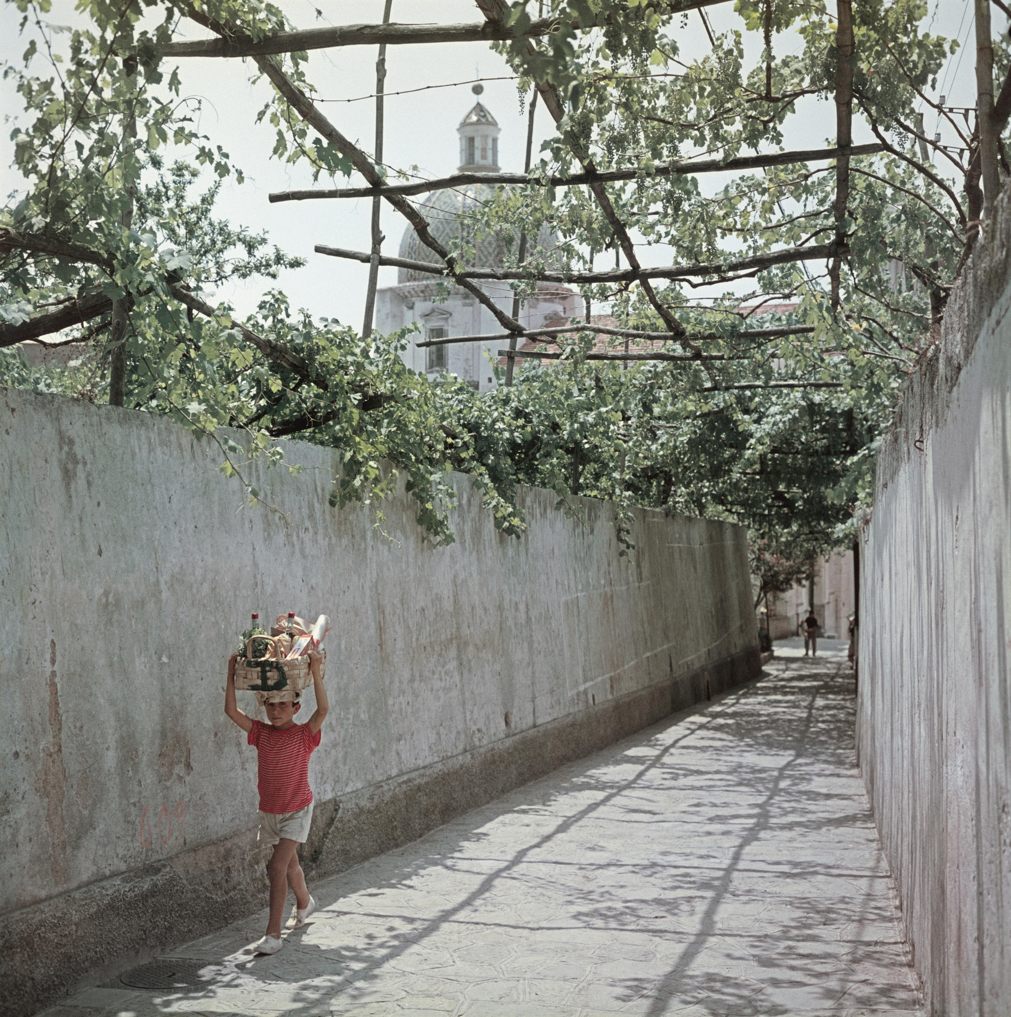
<svg viewBox="0 0 1011 1017"><path fill-rule="evenodd" d="M257 787L260 791L260 830L258 840L274 845L267 863L270 878L270 919L267 932L253 948L254 953L276 953L283 941L280 922L283 917L288 888L295 891L295 907L288 921L289 929L298 929L316 910L316 901L309 895L306 878L299 864L296 849L309 836L312 821L312 791L309 789L309 756L319 744L319 729L323 726L329 704L320 677L319 654L310 654L316 712L306 724L296 724L295 715L302 709L300 693L265 694L264 708L268 724L246 716L235 701L235 665L238 654L229 658L229 676L225 684L225 713L248 735L257 752ZM295 700L278 700L279 696Z"/></svg>

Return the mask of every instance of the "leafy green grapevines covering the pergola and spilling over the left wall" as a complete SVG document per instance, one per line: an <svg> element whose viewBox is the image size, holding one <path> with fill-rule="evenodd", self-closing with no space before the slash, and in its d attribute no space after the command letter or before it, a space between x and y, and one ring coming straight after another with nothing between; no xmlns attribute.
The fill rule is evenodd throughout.
<svg viewBox="0 0 1011 1017"><path fill-rule="evenodd" d="M281 464L282 437L332 446L340 468L331 504L372 504L381 525L382 498L402 477L436 544L453 539L453 470L476 479L507 534L525 526L519 484L556 491L560 510L576 515L575 493L613 501L626 549L635 506L738 520L753 531L756 574L770 590L812 555L851 541L871 497L878 436L902 380L936 340L968 238L959 197L967 154L934 149L935 165L921 151L929 139L915 136L922 94L954 47L922 31L921 0L855 5L855 116L888 151L851 160L839 308L829 306L817 265L710 277L753 279L744 300L730 289L697 299L690 284L675 281L656 287L657 299L688 335L664 350L694 359L624 370L587 360L591 338L575 336L563 344L565 361L527 362L513 386L481 396L460 379L433 383L406 368L403 333L363 341L336 321L293 310L273 290L244 322L226 305L194 315L174 292L182 285L200 297L229 280L276 279L301 263L265 236L213 217L220 181L233 173L241 181L241 171L196 131L176 71L159 57L181 17L195 12L201 23L260 39L291 27L279 8L258 0L214 0L192 11L159 0L93 0L79 8L90 27L66 33L45 20L49 0L16 2L29 38L23 59L4 74L23 107L14 140L25 189L0 212L0 229L76 244L96 257L4 248L0 319L17 323L88 294L125 301L127 405L170 414L216 441L227 474L245 483L250 456ZM612 205L646 244L666 245L674 264L725 263L835 236L831 163L740 174L715 194L690 175L654 172L700 154L729 160L775 149L799 103L831 99L838 52L823 9L739 0L738 27L690 58L677 41L688 15L671 14L658 0L544 6L559 17L556 32L534 46L495 44L521 75L521 93L536 76L565 104L534 176L577 171L587 157L602 170L637 167L634 180L609 185ZM513 3L511 23L522 29L534 11L527 0ZM803 42L800 52L782 45L785 32ZM749 33L762 40L753 63ZM276 59L311 96L305 58ZM997 62L1003 73L1004 41ZM351 173L346 154L272 88L259 119L274 128L273 158L306 161L316 177ZM188 163L166 162L170 143L188 152ZM207 175L216 181L194 194ZM548 253L582 267L617 245L613 222L583 187L500 188L467 216L455 249L463 258L482 231L508 236L520 228L534 237L545 224L559 247L534 251L532 267ZM515 288L526 298L536 285L529 279ZM640 286L580 289L608 302L625 325L666 330ZM764 301L796 306L785 316L748 312ZM742 335L772 324L811 332ZM71 340L87 334L91 343L65 366L29 368L19 353L0 352L0 380L104 398L108 325L106 314L71 330ZM784 380L811 386L777 387ZM834 387L817 387L824 384ZM246 492L252 503L260 499L251 484Z"/></svg>

